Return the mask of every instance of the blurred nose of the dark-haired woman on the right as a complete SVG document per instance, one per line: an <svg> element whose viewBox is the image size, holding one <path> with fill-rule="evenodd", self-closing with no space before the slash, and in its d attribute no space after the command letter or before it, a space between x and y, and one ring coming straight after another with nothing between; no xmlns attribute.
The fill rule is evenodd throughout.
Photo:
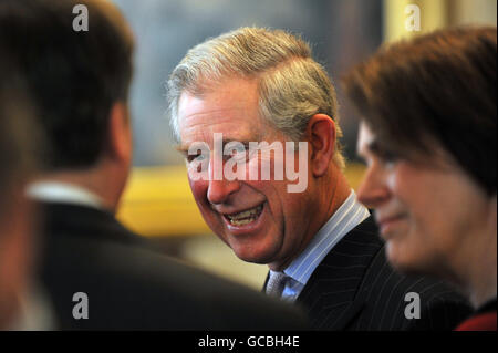
<svg viewBox="0 0 498 353"><path fill-rule="evenodd" d="M357 189L357 199L367 208L376 208L390 198L385 175L376 166L370 166Z"/></svg>

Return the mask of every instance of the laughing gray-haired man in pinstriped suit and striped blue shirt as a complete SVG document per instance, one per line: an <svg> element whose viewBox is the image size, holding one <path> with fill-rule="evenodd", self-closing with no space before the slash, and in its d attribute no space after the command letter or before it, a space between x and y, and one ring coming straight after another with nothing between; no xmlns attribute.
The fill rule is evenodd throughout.
<svg viewBox="0 0 498 353"><path fill-rule="evenodd" d="M260 28L207 40L168 98L204 219L241 260L268 264L264 291L314 329L450 330L468 314L444 283L386 262L343 174L334 87L303 40Z"/></svg>

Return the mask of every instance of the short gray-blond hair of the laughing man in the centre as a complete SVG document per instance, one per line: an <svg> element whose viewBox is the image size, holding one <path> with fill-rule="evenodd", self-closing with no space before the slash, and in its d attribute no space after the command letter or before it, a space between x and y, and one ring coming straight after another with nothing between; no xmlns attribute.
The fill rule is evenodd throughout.
<svg viewBox="0 0 498 353"><path fill-rule="evenodd" d="M170 125L179 141L178 102L184 92L201 96L224 77L258 80L260 115L289 138L302 138L314 114L339 121L335 90L310 45L282 30L240 28L190 49L167 83ZM336 124L334 162L344 168Z"/></svg>

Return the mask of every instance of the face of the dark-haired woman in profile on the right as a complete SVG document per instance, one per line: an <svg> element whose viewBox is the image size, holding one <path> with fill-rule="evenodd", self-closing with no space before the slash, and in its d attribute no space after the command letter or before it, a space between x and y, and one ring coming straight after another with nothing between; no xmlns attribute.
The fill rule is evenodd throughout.
<svg viewBox="0 0 498 353"><path fill-rule="evenodd" d="M423 162L397 158L365 123L357 150L367 164L359 199L375 209L390 262L443 277L464 268L489 218L484 190L442 148Z"/></svg>

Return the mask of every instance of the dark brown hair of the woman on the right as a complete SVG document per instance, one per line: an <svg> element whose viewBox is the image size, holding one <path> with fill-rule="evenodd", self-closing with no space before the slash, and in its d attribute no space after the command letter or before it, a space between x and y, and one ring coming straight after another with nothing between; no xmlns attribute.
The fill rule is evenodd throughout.
<svg viewBox="0 0 498 353"><path fill-rule="evenodd" d="M390 150L430 158L436 143L496 195L496 27L439 30L387 45L344 84Z"/></svg>

